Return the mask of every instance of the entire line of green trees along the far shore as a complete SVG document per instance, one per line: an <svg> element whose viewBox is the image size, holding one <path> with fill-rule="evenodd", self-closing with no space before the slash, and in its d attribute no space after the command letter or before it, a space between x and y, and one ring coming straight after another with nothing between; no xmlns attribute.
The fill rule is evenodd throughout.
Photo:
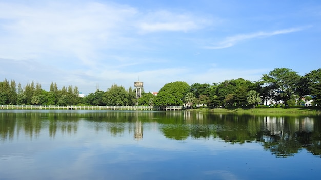
<svg viewBox="0 0 321 180"><path fill-rule="evenodd" d="M157 96L142 91L137 99L135 89L125 89L117 84L106 91L97 90L84 98L78 96L77 86L57 88L52 82L50 91L41 84L27 83L24 87L14 80L0 82L0 105L96 105L96 106L182 106L195 107L244 107L258 104L304 105L313 100L314 106L321 103L321 68L304 76L289 68L275 68L263 74L256 82L243 78L225 80L219 83L194 83L184 81L165 84Z"/></svg>

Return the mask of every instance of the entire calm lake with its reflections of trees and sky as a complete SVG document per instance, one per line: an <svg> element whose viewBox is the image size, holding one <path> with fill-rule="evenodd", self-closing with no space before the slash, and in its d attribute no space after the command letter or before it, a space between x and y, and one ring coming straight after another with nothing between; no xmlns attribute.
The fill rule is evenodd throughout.
<svg viewBox="0 0 321 180"><path fill-rule="evenodd" d="M0 110L0 179L317 179L318 115Z"/></svg>

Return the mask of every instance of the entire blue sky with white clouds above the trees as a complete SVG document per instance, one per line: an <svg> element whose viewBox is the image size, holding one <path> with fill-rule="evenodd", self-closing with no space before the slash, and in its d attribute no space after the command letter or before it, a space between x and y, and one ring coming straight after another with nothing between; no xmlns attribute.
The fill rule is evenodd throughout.
<svg viewBox="0 0 321 180"><path fill-rule="evenodd" d="M47 91L304 75L320 48L321 1L0 0L0 80Z"/></svg>

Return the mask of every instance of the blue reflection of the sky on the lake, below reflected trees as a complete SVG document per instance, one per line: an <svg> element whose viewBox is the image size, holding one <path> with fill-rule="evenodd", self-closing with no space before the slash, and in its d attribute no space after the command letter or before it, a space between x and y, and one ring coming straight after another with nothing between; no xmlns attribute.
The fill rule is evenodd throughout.
<svg viewBox="0 0 321 180"><path fill-rule="evenodd" d="M139 140L135 121L83 119L69 131L64 123L54 136L45 122L37 136L20 130L0 142L0 179L307 179L321 167L321 158L305 149L277 158L257 142L168 139L156 122L141 123ZM115 126L123 130L112 133Z"/></svg>

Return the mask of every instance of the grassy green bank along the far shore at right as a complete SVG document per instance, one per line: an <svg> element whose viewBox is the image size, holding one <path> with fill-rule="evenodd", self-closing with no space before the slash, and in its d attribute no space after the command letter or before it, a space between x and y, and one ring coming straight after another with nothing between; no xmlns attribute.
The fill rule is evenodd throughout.
<svg viewBox="0 0 321 180"><path fill-rule="evenodd" d="M249 114L320 114L320 109L309 109L309 108L255 108L255 109L242 109L242 108L198 108L189 109L188 111L196 112L209 112L209 113L249 113Z"/></svg>

